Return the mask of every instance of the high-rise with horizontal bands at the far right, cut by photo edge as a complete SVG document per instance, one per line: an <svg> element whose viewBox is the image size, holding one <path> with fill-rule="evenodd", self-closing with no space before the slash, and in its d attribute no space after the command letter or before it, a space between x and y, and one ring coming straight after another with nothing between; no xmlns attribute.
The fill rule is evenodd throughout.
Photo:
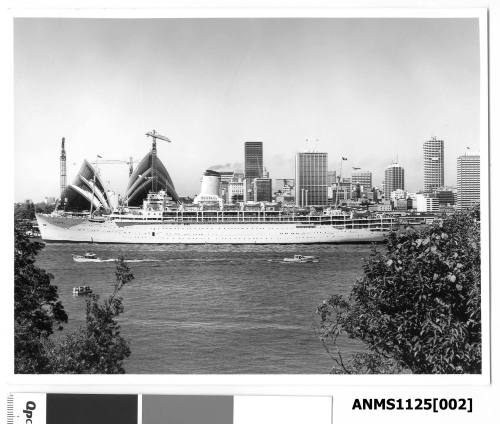
<svg viewBox="0 0 500 424"><path fill-rule="evenodd" d="M457 208L467 209L481 199L479 155L462 155L457 159Z"/></svg>

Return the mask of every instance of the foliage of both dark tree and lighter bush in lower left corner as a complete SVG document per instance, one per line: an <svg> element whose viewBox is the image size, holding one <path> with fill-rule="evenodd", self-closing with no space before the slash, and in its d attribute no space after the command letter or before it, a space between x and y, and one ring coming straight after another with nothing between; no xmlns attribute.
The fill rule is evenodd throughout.
<svg viewBox="0 0 500 424"><path fill-rule="evenodd" d="M86 300L85 324L77 331L54 337L68 316L58 298L51 274L35 265L43 243L26 235L23 222L15 224L14 337L16 373L123 373L130 356L120 333L123 312L120 290L134 276L123 258L116 262L113 293L103 301L92 294Z"/></svg>

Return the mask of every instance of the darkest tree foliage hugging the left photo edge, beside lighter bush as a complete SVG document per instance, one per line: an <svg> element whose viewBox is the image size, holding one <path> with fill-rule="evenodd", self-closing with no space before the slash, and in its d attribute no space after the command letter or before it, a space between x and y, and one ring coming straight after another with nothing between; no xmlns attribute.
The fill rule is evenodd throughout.
<svg viewBox="0 0 500 424"><path fill-rule="evenodd" d="M52 275L35 265L43 244L31 241L26 227L15 225L14 238L14 370L16 373L50 372L44 340L54 327L68 321Z"/></svg>

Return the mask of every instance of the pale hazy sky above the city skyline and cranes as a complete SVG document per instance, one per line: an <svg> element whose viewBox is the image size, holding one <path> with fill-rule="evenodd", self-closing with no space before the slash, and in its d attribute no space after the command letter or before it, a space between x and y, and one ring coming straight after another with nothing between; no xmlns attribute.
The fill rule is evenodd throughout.
<svg viewBox="0 0 500 424"><path fill-rule="evenodd" d="M479 151L477 19L54 19L14 24L15 200L59 195L84 158L140 160L155 129L180 195L205 169L242 169L245 141L264 143L271 178L318 140L330 170L350 176L398 161L423 187L422 144L456 158ZM309 144L311 148L312 144ZM102 165L123 193L125 164Z"/></svg>

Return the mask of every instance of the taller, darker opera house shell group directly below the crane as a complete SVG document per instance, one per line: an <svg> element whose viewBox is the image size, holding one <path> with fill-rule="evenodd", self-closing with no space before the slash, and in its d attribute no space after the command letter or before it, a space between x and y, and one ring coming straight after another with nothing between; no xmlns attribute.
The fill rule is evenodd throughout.
<svg viewBox="0 0 500 424"><path fill-rule="evenodd" d="M125 197L129 206L142 206L150 191L160 190L165 190L174 201L179 200L174 183L153 147L130 176Z"/></svg>

